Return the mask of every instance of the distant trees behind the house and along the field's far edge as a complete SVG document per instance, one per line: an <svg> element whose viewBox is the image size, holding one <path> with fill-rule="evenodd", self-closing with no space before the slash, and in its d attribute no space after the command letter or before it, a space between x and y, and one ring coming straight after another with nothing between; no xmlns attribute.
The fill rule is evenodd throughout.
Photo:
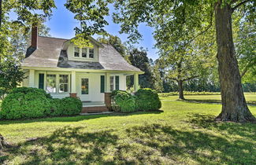
<svg viewBox="0 0 256 165"><path fill-rule="evenodd" d="M210 37L210 36L208 36ZM203 38L201 38L203 39ZM170 74L176 75L176 72L173 72L169 66L166 65L167 62L165 58L160 57L159 59L153 61L147 55L147 49L143 49L142 47L137 48L134 46L128 46L127 43L121 42L121 38L117 36L109 35L105 38L98 38L99 42L103 42L106 44L112 45L121 55L124 57L128 63L132 64L136 68L139 68L143 72L143 75L139 75L139 86L143 88L152 88L157 90L159 93L168 93L168 92L176 92L179 91L179 84L176 80L172 78ZM209 41L209 40L205 40ZM199 40L202 42L202 40ZM198 43L197 43L198 44ZM212 51L212 50L211 50ZM202 56L200 57L202 58ZM173 59L172 59L173 60ZM198 58L195 60L188 58L189 61L199 61ZM212 58L208 57L207 59L210 63L216 63ZM173 60L174 61L174 60ZM209 65L207 69L204 68L196 68L195 64L192 65L189 72L191 72L194 67L193 72L200 73L198 76L195 76L193 79L188 79L183 83L183 90L186 91L207 91L207 92L220 92L221 86L218 81L217 68L213 67L213 65ZM196 63L198 65L198 63ZM175 70L175 69L174 69ZM250 69L248 69L250 71ZM187 69L185 69L187 72ZM252 73L252 72L251 72ZM247 73L247 76L244 76L243 80L243 91L244 92L256 92L256 82L251 81L251 79L246 77L253 77L250 75L250 72ZM127 77L127 86L128 90L133 86L133 75Z"/></svg>

